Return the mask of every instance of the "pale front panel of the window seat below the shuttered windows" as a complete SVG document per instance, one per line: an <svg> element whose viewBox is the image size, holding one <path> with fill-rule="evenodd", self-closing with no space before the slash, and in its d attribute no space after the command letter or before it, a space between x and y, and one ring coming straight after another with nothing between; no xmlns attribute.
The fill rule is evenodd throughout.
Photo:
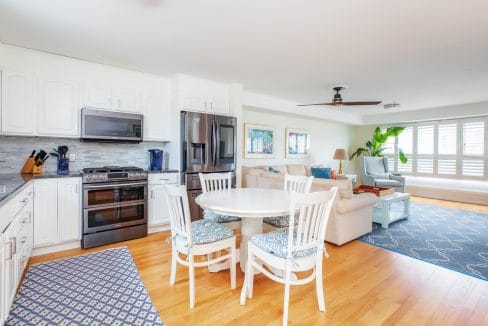
<svg viewBox="0 0 488 326"><path fill-rule="evenodd" d="M482 192L470 192L426 186L406 186L405 191L410 193L412 196L418 197L450 200L478 205L486 205L488 203L488 193Z"/></svg>

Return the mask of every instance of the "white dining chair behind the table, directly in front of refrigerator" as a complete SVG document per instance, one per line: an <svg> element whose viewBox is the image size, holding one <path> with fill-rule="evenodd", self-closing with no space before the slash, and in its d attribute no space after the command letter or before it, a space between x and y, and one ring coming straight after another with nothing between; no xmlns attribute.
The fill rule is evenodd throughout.
<svg viewBox="0 0 488 326"><path fill-rule="evenodd" d="M202 185L202 192L209 191L224 191L232 188L232 173L199 173L200 184ZM203 218L217 222L226 223L227 227L237 229L240 227L240 218L236 216L228 216L216 214L208 211L203 212Z"/></svg>

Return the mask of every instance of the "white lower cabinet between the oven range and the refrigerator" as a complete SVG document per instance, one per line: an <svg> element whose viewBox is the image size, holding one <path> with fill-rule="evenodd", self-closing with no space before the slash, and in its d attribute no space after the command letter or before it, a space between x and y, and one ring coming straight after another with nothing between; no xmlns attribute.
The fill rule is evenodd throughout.
<svg viewBox="0 0 488 326"><path fill-rule="evenodd" d="M169 210L164 197L163 182L178 184L178 173L153 173L149 175L148 215L149 227L169 225Z"/></svg>

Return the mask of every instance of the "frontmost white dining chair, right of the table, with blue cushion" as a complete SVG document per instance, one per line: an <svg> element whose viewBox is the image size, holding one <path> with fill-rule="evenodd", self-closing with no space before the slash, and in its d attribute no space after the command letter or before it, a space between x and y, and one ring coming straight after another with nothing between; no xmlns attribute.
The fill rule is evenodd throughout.
<svg viewBox="0 0 488 326"><path fill-rule="evenodd" d="M258 270L275 282L285 285L283 304L283 325L288 323L288 306L291 285L302 285L315 279L317 301L320 311L325 311L322 285L322 259L325 251L325 232L330 211L337 195L337 187L329 191L308 194L293 193L290 203L290 226L288 232L274 231L258 234L248 242L246 275L241 291L241 305L246 296L252 298L254 270ZM293 227L294 221L298 225ZM276 275L266 269L283 270L284 275ZM292 278L292 273L312 270L304 278Z"/></svg>

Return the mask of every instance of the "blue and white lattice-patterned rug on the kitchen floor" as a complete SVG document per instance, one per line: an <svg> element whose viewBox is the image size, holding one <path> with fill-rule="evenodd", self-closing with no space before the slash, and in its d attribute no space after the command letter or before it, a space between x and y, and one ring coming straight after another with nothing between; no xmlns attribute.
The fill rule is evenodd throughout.
<svg viewBox="0 0 488 326"><path fill-rule="evenodd" d="M127 247L32 266L5 325L162 325Z"/></svg>

